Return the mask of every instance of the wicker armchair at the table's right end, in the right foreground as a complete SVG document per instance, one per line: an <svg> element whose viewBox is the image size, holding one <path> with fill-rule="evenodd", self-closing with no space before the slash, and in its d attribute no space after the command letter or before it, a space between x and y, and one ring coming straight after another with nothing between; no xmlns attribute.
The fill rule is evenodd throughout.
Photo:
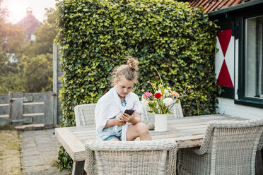
<svg viewBox="0 0 263 175"><path fill-rule="evenodd" d="M255 174L263 119L211 121L199 148L178 150L178 174Z"/></svg>

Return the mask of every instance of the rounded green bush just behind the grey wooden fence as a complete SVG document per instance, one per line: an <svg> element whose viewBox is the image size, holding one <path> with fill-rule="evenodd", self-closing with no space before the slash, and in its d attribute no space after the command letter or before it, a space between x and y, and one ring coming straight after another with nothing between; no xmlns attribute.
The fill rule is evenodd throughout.
<svg viewBox="0 0 263 175"><path fill-rule="evenodd" d="M23 56L11 71L0 79L0 93L45 92L52 90L52 54Z"/></svg>

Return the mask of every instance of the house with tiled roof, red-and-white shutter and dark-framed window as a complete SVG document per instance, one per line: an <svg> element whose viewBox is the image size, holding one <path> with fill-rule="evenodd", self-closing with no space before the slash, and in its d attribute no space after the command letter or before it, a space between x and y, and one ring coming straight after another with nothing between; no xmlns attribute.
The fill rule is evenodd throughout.
<svg viewBox="0 0 263 175"><path fill-rule="evenodd" d="M225 92L218 113L263 118L263 0L189 0L221 27L216 78Z"/></svg>

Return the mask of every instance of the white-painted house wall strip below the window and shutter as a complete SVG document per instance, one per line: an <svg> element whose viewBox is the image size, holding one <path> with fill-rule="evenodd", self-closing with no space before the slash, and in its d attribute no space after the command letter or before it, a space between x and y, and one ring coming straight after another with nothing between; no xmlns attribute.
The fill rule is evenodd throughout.
<svg viewBox="0 0 263 175"><path fill-rule="evenodd" d="M260 119L263 118L263 109L257 107L247 107L235 104L234 99L218 97L218 108L216 113L238 116L244 119Z"/></svg>

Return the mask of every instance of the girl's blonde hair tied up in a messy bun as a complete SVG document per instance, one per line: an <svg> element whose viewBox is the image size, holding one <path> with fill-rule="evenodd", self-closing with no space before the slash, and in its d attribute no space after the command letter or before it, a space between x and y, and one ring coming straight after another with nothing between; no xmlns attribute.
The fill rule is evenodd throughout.
<svg viewBox="0 0 263 175"><path fill-rule="evenodd" d="M127 80L134 81L134 83L136 83L138 78L137 71L139 70L138 65L139 61L131 56L127 56L127 64L122 64L121 66L114 68L111 78L112 86L114 86L115 82L122 76L124 76Z"/></svg>

